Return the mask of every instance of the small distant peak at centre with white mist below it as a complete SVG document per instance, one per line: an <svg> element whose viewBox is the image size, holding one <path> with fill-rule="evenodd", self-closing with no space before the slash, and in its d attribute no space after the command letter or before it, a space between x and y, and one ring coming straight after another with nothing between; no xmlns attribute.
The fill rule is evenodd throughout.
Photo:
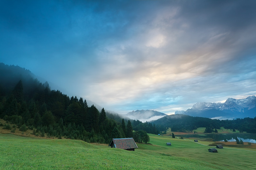
<svg viewBox="0 0 256 170"><path fill-rule="evenodd" d="M155 111L155 110L136 110L125 114L124 116L129 117L133 120L140 120L141 122L152 121L160 119L166 114Z"/></svg>

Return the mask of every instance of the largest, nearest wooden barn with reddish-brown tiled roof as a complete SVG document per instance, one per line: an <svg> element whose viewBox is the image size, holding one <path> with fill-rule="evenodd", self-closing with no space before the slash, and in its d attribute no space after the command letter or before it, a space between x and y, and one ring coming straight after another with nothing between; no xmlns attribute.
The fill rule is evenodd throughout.
<svg viewBox="0 0 256 170"><path fill-rule="evenodd" d="M135 143L132 137L116 139L113 138L108 146L111 146L111 148L125 149L127 151L134 151L135 148L138 148L137 144Z"/></svg>

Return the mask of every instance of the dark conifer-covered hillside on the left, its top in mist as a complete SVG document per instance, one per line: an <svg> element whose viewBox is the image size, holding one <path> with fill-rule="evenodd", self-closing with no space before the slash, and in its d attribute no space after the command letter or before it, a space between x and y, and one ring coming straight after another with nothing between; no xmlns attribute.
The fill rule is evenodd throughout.
<svg viewBox="0 0 256 170"><path fill-rule="evenodd" d="M94 105L88 106L83 98L69 98L59 90L51 90L47 82L42 84L29 70L3 63L0 66L0 118L16 124L19 130L26 131L28 127L34 130L36 136L99 143L133 136L133 121L106 114L104 108L99 112ZM138 130L146 127L144 129L148 133L158 133L151 124L150 128L154 130L147 128L148 124L139 124L141 128ZM8 124L1 125L12 129Z"/></svg>

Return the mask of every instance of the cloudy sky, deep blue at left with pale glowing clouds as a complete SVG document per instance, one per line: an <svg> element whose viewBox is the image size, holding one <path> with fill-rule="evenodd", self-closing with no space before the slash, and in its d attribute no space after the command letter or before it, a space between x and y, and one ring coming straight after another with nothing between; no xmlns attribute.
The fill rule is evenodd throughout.
<svg viewBox="0 0 256 170"><path fill-rule="evenodd" d="M255 0L0 1L0 62L125 114L256 95Z"/></svg>

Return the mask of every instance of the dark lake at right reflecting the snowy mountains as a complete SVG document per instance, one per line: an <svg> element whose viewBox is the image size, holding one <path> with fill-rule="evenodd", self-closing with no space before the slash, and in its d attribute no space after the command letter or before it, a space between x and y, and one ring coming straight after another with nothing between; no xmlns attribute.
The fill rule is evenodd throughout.
<svg viewBox="0 0 256 170"><path fill-rule="evenodd" d="M236 142L236 137L244 142L256 143L255 133L220 133L220 134L189 134L181 135L182 137L193 137L195 139L200 138L212 138L213 141L224 141L227 139L229 142Z"/></svg>

